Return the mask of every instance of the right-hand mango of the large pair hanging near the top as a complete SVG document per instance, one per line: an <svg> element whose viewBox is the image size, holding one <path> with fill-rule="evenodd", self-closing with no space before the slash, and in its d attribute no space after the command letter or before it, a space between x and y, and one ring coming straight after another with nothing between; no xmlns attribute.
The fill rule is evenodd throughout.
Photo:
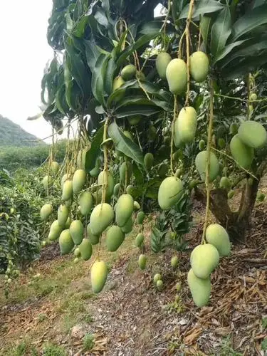
<svg viewBox="0 0 267 356"><path fill-rule="evenodd" d="M206 80L209 73L209 58L206 53L201 51L192 53L189 59L189 68L190 75L197 83Z"/></svg>

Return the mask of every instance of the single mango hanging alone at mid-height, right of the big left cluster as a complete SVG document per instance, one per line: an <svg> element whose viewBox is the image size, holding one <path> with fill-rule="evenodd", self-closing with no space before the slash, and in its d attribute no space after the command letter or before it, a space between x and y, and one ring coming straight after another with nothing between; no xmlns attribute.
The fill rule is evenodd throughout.
<svg viewBox="0 0 267 356"><path fill-rule="evenodd" d="M162 210L170 209L181 197L182 180L177 177L165 178L159 186L157 200Z"/></svg>

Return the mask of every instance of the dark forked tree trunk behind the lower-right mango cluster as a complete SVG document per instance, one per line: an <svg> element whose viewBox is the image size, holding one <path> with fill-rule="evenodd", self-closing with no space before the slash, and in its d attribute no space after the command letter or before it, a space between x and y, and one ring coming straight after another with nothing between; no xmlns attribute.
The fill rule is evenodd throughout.
<svg viewBox="0 0 267 356"><path fill-rule="evenodd" d="M231 211L228 204L226 189L213 189L210 196L210 209L219 223L226 228L232 242L244 242L251 227L251 213L256 200L259 180L253 179L250 186L248 180L242 191L238 211ZM206 192L195 189L195 197L206 204Z"/></svg>

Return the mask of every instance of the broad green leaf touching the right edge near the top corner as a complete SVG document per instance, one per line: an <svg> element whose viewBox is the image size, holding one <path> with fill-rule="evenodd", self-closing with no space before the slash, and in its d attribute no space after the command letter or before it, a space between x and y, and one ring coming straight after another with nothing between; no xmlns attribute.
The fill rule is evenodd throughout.
<svg viewBox="0 0 267 356"><path fill-rule="evenodd" d="M231 41L236 41L237 38L246 33L253 31L256 27L267 23L267 4L249 10L244 16L234 23L232 28Z"/></svg>

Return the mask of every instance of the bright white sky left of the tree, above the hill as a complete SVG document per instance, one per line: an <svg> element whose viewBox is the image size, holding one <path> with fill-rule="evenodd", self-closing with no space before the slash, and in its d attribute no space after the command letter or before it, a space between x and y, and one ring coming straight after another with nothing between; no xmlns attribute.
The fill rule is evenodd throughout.
<svg viewBox="0 0 267 356"><path fill-rule="evenodd" d="M41 117L41 78L53 50L46 31L52 0L1 0L0 14L0 114L39 138L51 135Z"/></svg>

